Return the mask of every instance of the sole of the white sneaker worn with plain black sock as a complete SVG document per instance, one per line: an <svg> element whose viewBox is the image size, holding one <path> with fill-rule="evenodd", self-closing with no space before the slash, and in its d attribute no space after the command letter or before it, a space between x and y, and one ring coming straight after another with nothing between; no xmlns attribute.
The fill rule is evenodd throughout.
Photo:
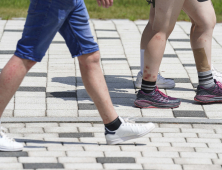
<svg viewBox="0 0 222 170"><path fill-rule="evenodd" d="M126 136L126 137L118 138L118 139L115 139L115 140L109 140L109 141L107 141L107 144L108 144L108 145L116 145L116 144L125 142L125 141L127 141L127 140L140 138L140 137L143 137L143 136L145 136L146 134L152 132L153 129L155 129L155 125L152 123L152 127L151 127L150 129L148 129L148 130L147 130L146 132L144 132L144 133L141 133L141 134L138 134L138 135L134 135L134 136Z"/></svg>

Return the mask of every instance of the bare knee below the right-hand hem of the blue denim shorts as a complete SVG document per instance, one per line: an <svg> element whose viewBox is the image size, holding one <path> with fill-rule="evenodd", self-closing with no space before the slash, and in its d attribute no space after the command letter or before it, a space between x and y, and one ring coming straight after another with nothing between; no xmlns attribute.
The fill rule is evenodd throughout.
<svg viewBox="0 0 222 170"><path fill-rule="evenodd" d="M100 62L99 52L79 57L79 64L84 68L91 68L92 65L99 65L99 62Z"/></svg>

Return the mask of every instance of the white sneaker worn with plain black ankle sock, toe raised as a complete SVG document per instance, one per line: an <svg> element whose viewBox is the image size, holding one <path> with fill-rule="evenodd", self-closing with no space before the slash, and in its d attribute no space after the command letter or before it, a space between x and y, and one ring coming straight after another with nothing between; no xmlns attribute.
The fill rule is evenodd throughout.
<svg viewBox="0 0 222 170"><path fill-rule="evenodd" d="M140 138L151 132L155 125L153 123L138 124L129 119L119 117L122 124L116 131L109 131L105 128L105 137L108 145L115 145L124 141Z"/></svg>

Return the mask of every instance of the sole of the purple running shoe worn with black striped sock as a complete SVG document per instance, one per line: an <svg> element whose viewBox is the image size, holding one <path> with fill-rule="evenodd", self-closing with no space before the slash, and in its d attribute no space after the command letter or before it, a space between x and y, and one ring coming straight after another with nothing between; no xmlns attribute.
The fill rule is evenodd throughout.
<svg viewBox="0 0 222 170"><path fill-rule="evenodd" d="M175 103L175 104L171 104L171 105L170 104L160 105L159 103L158 104L156 104L156 103L150 104L146 100L137 100L134 102L134 104L139 108L165 108L165 109L177 108L180 106L180 103Z"/></svg>

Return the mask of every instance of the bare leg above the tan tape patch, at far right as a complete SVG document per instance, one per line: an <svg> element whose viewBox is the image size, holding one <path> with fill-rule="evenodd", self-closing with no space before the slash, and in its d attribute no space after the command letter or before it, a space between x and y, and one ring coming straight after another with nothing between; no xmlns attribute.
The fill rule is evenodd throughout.
<svg viewBox="0 0 222 170"><path fill-rule="evenodd" d="M208 64L211 66L212 35L216 24L216 15L212 2L210 0L204 2L186 0L183 10L190 16L192 21L190 33L192 49L203 48Z"/></svg>

